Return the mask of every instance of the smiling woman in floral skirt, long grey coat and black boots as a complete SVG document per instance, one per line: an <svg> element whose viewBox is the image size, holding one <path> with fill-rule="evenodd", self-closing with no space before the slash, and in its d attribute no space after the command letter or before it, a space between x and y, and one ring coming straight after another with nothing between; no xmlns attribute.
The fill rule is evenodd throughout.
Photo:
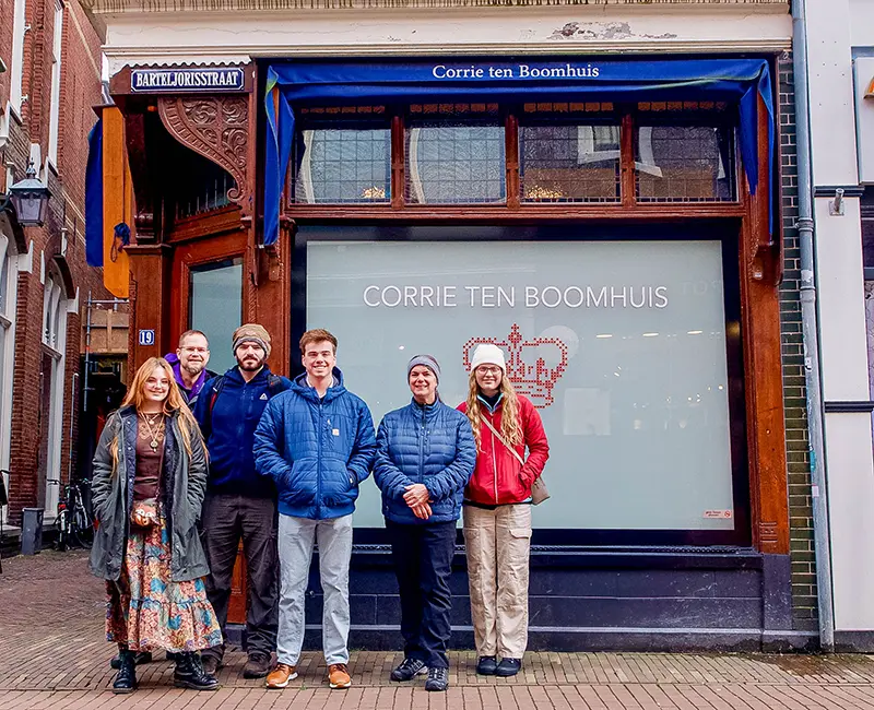
<svg viewBox="0 0 874 710"><path fill-rule="evenodd" d="M174 685L214 690L197 651L222 642L203 577L197 521L206 489L203 439L173 369L149 358L94 454L98 521L91 570L106 580L107 640L118 643L114 693L137 687L134 654L176 654Z"/></svg>

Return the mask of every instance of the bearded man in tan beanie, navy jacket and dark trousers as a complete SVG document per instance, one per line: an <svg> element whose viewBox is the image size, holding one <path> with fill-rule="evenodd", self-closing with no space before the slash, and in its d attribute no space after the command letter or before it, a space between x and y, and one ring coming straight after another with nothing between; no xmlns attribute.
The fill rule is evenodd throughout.
<svg viewBox="0 0 874 710"><path fill-rule="evenodd" d="M255 470L255 428L268 402L287 390L291 380L267 365L270 334L247 323L234 331L237 366L209 380L194 404L194 416L210 452L210 477L201 521L203 548L210 564L206 595L226 638L231 578L239 540L248 571L246 630L249 659L246 678L262 678L276 648L279 579L276 575L276 489ZM224 644L201 653L214 674Z"/></svg>

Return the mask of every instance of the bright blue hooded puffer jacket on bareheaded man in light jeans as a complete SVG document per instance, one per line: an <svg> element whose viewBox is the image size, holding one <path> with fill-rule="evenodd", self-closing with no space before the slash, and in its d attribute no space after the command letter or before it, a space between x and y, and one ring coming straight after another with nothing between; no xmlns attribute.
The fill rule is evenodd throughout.
<svg viewBox="0 0 874 710"><path fill-rule="evenodd" d="M358 484L376 452L374 419L364 401L343 387L343 375L322 399L306 375L277 394L255 431L255 465L270 476L284 516L322 520L355 510Z"/></svg>

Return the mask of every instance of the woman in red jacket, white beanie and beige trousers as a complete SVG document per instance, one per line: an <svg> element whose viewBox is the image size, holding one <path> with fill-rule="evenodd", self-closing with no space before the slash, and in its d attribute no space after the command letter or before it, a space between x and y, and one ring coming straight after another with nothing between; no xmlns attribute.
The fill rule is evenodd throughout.
<svg viewBox="0 0 874 710"><path fill-rule="evenodd" d="M531 486L550 458L550 445L534 405L507 378L497 345L474 351L468 401L458 409L476 439L476 469L463 508L476 672L516 675L528 644Z"/></svg>

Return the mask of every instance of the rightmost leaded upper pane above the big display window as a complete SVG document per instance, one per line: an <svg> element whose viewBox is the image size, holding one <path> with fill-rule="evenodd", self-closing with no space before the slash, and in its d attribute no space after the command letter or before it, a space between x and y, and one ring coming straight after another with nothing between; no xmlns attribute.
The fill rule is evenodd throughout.
<svg viewBox="0 0 874 710"><path fill-rule="evenodd" d="M642 123L635 138L638 202L723 202L736 198L731 128Z"/></svg>

